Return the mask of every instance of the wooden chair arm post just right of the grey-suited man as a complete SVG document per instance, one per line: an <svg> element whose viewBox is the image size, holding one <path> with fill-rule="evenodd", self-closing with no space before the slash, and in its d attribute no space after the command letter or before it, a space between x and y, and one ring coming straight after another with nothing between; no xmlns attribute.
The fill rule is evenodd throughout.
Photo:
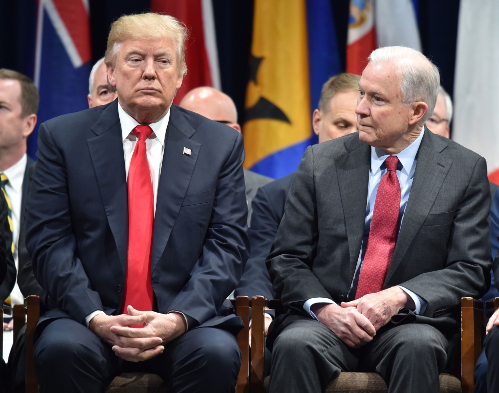
<svg viewBox="0 0 499 393"><path fill-rule="evenodd" d="M475 390L475 365L482 353L484 303L461 298L461 386L463 393Z"/></svg>

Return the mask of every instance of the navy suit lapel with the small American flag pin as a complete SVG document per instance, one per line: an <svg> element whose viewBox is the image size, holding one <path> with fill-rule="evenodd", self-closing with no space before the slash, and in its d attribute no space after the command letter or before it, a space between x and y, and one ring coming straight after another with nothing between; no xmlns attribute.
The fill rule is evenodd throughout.
<svg viewBox="0 0 499 393"><path fill-rule="evenodd" d="M189 139L194 132L172 105L154 218L152 271L163 255L196 166L201 144ZM184 147L191 149L190 155L183 153Z"/></svg>

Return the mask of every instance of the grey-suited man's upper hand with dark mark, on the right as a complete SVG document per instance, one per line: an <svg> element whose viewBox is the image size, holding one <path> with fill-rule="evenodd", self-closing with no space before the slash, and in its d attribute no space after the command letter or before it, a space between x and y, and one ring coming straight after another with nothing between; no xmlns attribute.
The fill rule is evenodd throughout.
<svg viewBox="0 0 499 393"><path fill-rule="evenodd" d="M376 332L404 308L415 309L414 301L399 287L368 294L360 299L341 303L341 307L355 307L359 313L369 319Z"/></svg>

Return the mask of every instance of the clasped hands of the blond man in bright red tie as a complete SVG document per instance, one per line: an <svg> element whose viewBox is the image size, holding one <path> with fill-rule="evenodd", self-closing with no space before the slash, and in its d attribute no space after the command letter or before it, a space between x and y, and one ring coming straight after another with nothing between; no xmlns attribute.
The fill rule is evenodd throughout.
<svg viewBox="0 0 499 393"><path fill-rule="evenodd" d="M143 328L131 328L141 326ZM182 314L138 311L128 306L128 315L97 314L88 328L112 346L121 359L142 362L163 353L164 345L186 331Z"/></svg>

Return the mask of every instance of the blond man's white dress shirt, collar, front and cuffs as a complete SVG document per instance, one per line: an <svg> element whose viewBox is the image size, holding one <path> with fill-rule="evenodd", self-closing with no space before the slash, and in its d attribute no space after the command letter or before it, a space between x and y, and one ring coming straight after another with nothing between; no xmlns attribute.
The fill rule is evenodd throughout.
<svg viewBox="0 0 499 393"><path fill-rule="evenodd" d="M125 112L118 104L118 116L120 118L121 124L121 135L123 138L123 153L125 155L125 173L128 179L128 169L130 168L130 162L132 161L133 152L135 145L137 144L137 136L132 132L132 130L138 126L140 123L137 122L132 116ZM165 152L165 137L166 129L168 127L168 122L170 121L170 110L167 114L159 119L158 121L149 124L149 127L153 130L149 138L146 139L146 152L147 161L149 162L149 171L151 173L151 182L153 185L153 195L154 195L154 214L156 215L156 200L158 197L158 184L161 175L161 166L163 164L163 153ZM129 201L130 203L130 201ZM177 311L178 312L178 311ZM180 312L178 312L180 313ZM88 324L97 314L105 314L101 310L94 311L89 314L85 321ZM186 326L188 324L187 318L183 313L186 321Z"/></svg>

